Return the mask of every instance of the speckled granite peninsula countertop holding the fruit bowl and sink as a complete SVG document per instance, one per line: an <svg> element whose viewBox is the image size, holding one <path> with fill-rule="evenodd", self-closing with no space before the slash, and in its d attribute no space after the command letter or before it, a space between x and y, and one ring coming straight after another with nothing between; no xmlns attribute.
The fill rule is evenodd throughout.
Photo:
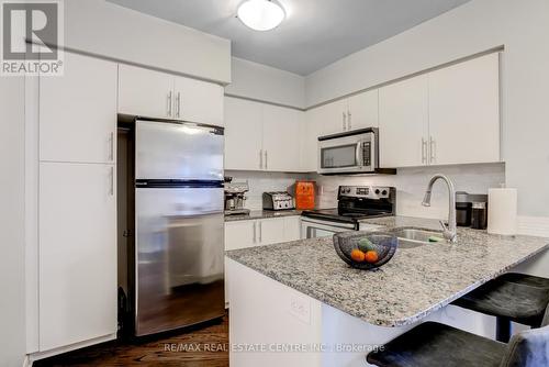
<svg viewBox="0 0 549 367"><path fill-rule="evenodd" d="M388 216L372 224L433 227L433 220ZM236 249L226 255L314 299L381 326L418 321L547 248L548 238L503 237L458 229L458 242L399 248L383 267L345 264L332 237Z"/></svg>

